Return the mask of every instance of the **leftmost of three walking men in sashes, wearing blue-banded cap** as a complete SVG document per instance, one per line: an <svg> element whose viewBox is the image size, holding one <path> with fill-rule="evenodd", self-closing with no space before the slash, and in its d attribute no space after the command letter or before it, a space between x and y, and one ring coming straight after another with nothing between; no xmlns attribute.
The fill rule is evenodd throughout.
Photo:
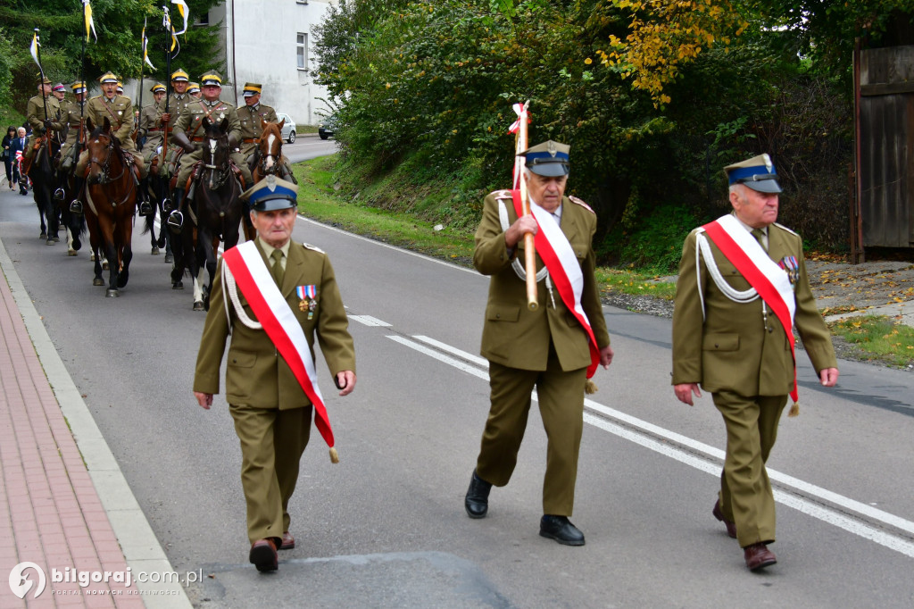
<svg viewBox="0 0 914 609"><path fill-rule="evenodd" d="M324 439L329 431L323 401L303 389L301 378L314 375L315 335L339 394L345 396L356 387L356 353L330 260L314 246L291 240L296 194L294 184L270 176L242 195L249 198L257 238L227 251L218 267L194 377L197 402L208 409L219 390L219 366L230 334L226 400L241 442L249 558L261 572L277 569L277 549L295 547L289 499L311 433L313 410ZM235 266L239 262L245 262L251 281L242 283ZM235 271L229 274L227 268ZM239 277L237 283L232 276ZM223 291L226 282L234 284L228 294L237 285L237 296ZM260 297L251 298L251 291ZM260 299L270 303L266 310L256 305ZM256 322L271 315L285 315L286 321L279 327ZM298 338L296 344L302 348L286 350L276 336L286 337L289 344L289 337ZM296 376L289 361L303 364L302 369L310 363L310 369Z"/></svg>

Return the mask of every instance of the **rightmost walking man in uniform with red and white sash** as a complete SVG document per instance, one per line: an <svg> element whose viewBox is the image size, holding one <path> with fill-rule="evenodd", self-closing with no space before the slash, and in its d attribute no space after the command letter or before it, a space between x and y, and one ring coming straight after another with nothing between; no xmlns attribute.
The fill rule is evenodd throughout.
<svg viewBox="0 0 914 609"><path fill-rule="evenodd" d="M824 387L838 379L831 334L816 309L802 240L776 224L781 185L769 155L724 168L733 213L685 239L673 314L676 398L709 391L727 426L712 514L739 540L750 571L777 560L765 463L788 395L796 402L793 328ZM792 409L793 415L795 409Z"/></svg>

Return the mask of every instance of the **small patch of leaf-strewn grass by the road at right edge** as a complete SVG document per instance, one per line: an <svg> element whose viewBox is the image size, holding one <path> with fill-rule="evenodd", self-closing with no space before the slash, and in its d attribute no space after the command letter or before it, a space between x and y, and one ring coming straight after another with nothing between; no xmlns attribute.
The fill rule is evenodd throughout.
<svg viewBox="0 0 914 609"><path fill-rule="evenodd" d="M885 315L849 317L828 326L835 336L856 346L867 359L898 368L914 364L914 327Z"/></svg>

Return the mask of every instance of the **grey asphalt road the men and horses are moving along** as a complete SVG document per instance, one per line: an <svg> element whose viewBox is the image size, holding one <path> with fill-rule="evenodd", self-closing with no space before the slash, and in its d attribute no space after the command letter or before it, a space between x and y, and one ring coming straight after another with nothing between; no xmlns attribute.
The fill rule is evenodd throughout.
<svg viewBox="0 0 914 609"><path fill-rule="evenodd" d="M299 142L293 155L325 154ZM770 461L779 563L751 574L710 513L720 417L709 397L689 408L669 387L669 320L607 307L616 359L588 402L572 518L587 545L559 546L537 535L535 410L488 518L463 512L488 410L476 355L488 280L306 219L294 238L334 263L358 385L335 397L318 362L341 463L314 433L290 510L298 547L261 575L228 409L191 394L204 315L189 290L170 289L139 230L116 299L91 285L85 251L37 236L34 204L0 193L0 239L156 536L175 570L211 575L187 589L197 606L914 605L911 373L841 362L839 387L821 390L801 354L801 415L783 420Z"/></svg>

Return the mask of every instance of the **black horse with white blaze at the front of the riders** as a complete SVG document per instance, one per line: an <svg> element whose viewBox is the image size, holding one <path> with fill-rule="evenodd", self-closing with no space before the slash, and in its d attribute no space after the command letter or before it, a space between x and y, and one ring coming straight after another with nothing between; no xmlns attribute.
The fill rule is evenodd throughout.
<svg viewBox="0 0 914 609"><path fill-rule="evenodd" d="M216 252L221 240L225 249L238 244L239 224L244 214L241 205L241 184L236 169L230 163L228 119L221 123L203 120L203 155L194 169L187 188L185 208L191 220L181 231L180 247L175 246L175 268L172 289L184 287L181 278L185 269L194 280L194 310L209 308L209 292L216 275ZM191 193L196 195L191 197ZM204 275L207 272L207 276Z"/></svg>

